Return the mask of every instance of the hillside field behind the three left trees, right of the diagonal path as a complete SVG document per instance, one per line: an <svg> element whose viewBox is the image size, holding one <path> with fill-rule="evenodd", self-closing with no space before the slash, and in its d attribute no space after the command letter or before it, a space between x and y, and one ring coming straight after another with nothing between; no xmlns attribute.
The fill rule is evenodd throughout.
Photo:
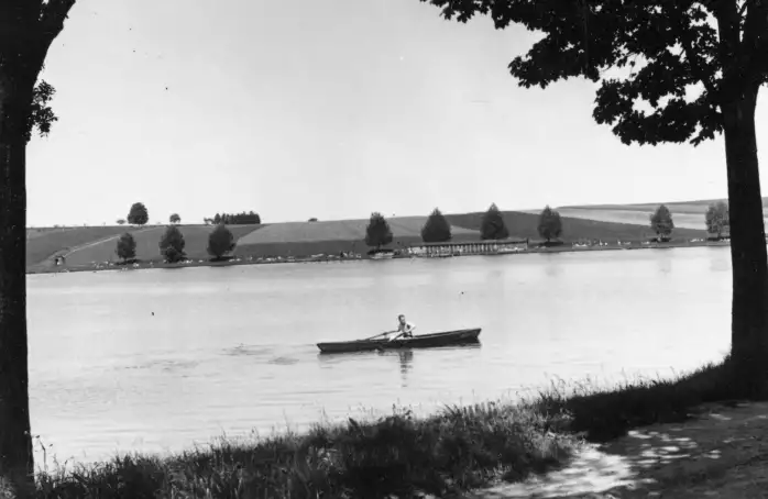
<svg viewBox="0 0 768 499"><path fill-rule="evenodd" d="M256 231L262 225L230 225L235 241L244 234ZM189 258L208 259L208 234L213 230L212 225L180 225L179 230L186 242L185 252ZM124 230L112 239L105 240L97 244L85 245L67 255L67 266L88 265L92 262L119 262L114 254L117 239ZM165 226L153 226L145 230L132 231L136 242L136 258L141 260L161 260L160 240L165 232Z"/></svg>

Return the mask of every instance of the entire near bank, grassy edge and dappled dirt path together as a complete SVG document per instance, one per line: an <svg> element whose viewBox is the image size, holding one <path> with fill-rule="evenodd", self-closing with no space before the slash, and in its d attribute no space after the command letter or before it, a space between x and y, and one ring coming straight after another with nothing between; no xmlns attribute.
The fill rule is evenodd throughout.
<svg viewBox="0 0 768 499"><path fill-rule="evenodd" d="M393 408L392 415L371 421L350 418L253 441L222 437L165 457L118 453L75 469L41 470L36 485L45 497L62 499L97 489L117 499L125 487L135 497L211 499L232 492L734 497L768 485L768 444L755 437L768 429L768 404L759 403L768 393L740 389L734 367L726 357L672 379L638 378L612 388L553 382L516 402L452 406L425 418Z"/></svg>

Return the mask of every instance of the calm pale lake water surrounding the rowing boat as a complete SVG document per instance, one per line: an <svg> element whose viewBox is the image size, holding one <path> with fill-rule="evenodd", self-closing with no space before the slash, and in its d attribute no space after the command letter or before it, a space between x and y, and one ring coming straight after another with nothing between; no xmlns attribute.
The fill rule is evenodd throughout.
<svg viewBox="0 0 768 499"><path fill-rule="evenodd" d="M728 248L29 277L33 433L59 461L514 397L553 376L670 375L729 345ZM393 329L482 345L319 356ZM39 454L40 458L40 454ZM39 461L40 463L40 461Z"/></svg>

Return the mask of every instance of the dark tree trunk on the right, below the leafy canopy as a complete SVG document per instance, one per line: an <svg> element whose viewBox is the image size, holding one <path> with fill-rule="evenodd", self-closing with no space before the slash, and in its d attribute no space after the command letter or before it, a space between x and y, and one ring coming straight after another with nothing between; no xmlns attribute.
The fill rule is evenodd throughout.
<svg viewBox="0 0 768 499"><path fill-rule="evenodd" d="M731 355L748 395L768 380L768 255L757 159L757 89L723 106L728 173L733 322Z"/></svg>

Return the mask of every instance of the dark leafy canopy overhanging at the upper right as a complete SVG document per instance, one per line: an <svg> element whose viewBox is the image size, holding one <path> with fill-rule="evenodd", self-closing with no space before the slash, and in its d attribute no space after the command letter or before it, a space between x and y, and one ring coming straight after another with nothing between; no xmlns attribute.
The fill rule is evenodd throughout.
<svg viewBox="0 0 768 499"><path fill-rule="evenodd" d="M739 89L756 98L768 81L766 2L420 1L448 20L487 14L498 30L517 23L542 33L512 60L512 76L526 88L573 77L600 82L593 117L625 144L713 138L724 125L718 107Z"/></svg>

